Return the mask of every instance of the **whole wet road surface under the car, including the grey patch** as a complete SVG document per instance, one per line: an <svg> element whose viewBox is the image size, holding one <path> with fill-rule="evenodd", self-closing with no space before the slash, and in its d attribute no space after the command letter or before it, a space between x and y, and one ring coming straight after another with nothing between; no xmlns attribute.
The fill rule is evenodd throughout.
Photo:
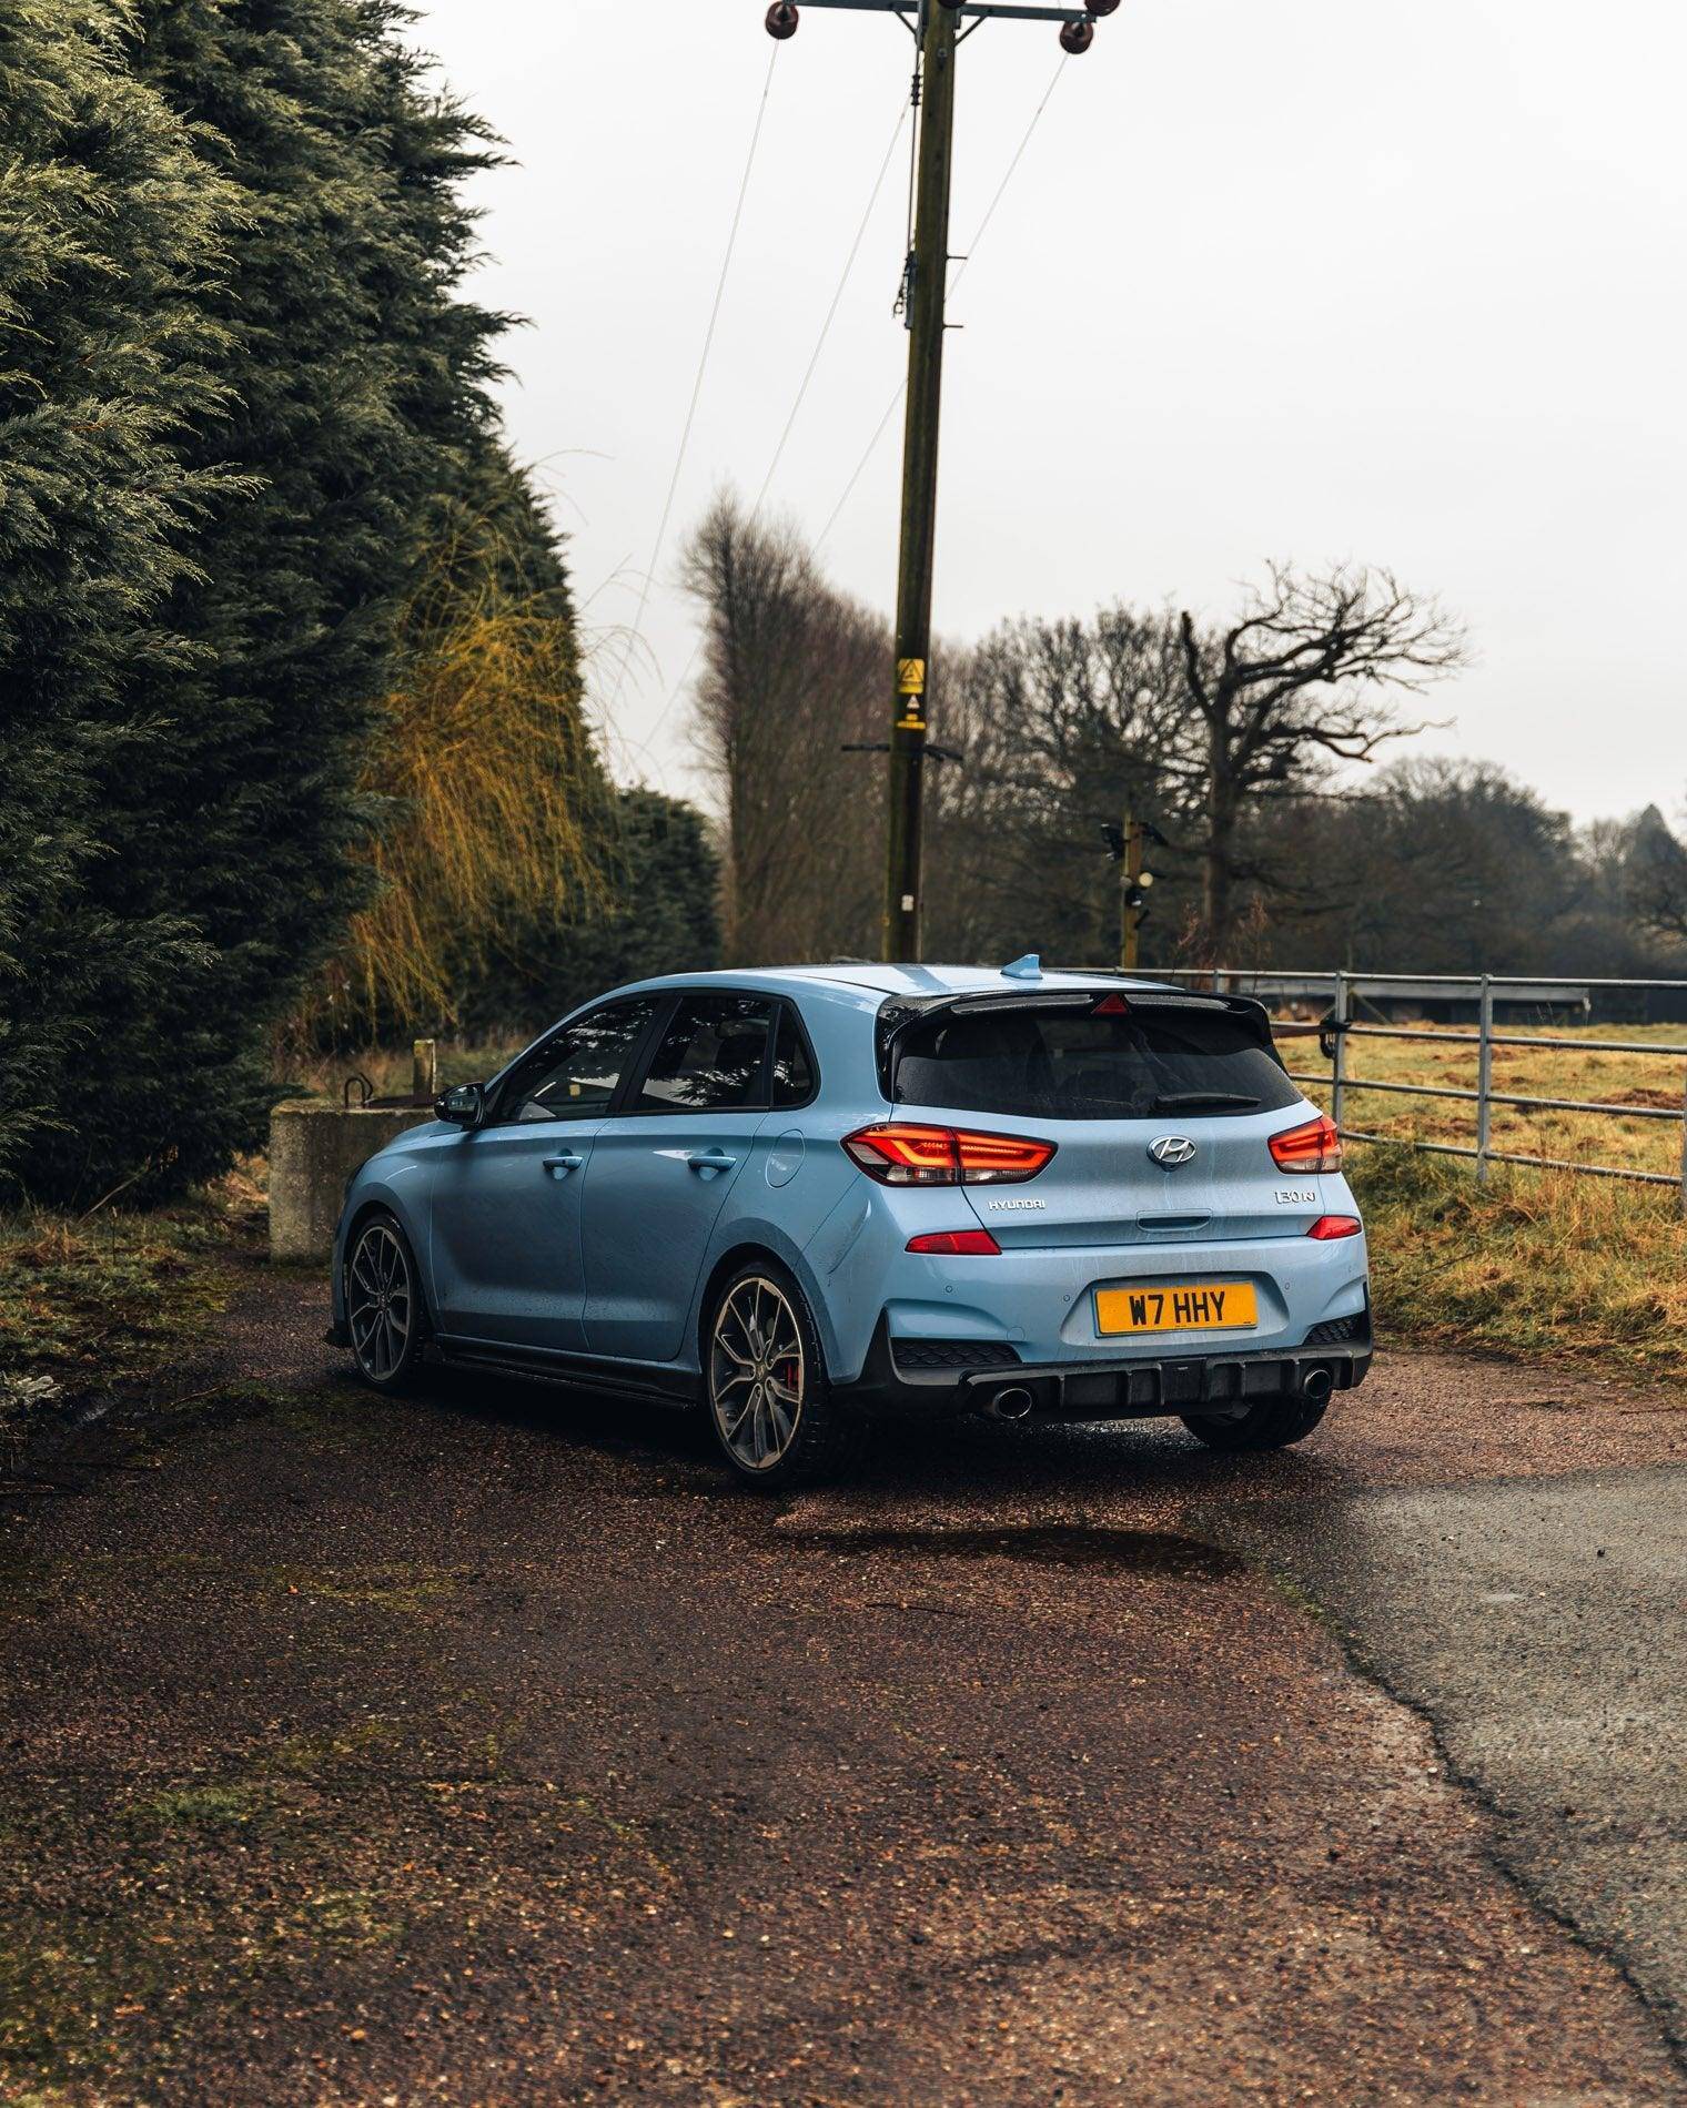
<svg viewBox="0 0 1687 2108"><path fill-rule="evenodd" d="M759 1503L318 1324L0 1490L0 2100L1687 2100L1668 1402Z"/></svg>

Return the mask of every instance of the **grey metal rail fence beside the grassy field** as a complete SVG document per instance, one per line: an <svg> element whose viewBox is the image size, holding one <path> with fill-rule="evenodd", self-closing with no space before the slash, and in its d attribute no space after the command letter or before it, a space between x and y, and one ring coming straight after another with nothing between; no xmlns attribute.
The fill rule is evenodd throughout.
<svg viewBox="0 0 1687 2108"><path fill-rule="evenodd" d="M1324 1075L1310 1075L1291 1069L1297 1084L1314 1084L1331 1094L1331 1117L1343 1140L1375 1143L1392 1149L1421 1149L1438 1157L1466 1157L1476 1166L1476 1178L1487 1185L1491 1164L1523 1164L1531 1170L1573 1172L1582 1178L1628 1178L1636 1185L1674 1187L1681 1193L1681 1212L1687 1216L1687 1069L1683 1071L1683 1096L1679 1107L1670 1105L1613 1105L1603 1098L1539 1098L1493 1088L1495 1048L1571 1048L1579 1054L1643 1054L1651 1060L1687 1062L1687 1043L1660 1046L1655 1039L1584 1039L1571 1033L1516 1033L1495 1031L1495 1003L1535 1003L1539 1008L1590 1008L1594 989L1668 989L1687 997L1687 980L1598 980L1575 976L1573 980L1544 980L1539 974L1350 974L1350 972L1263 972L1255 968L1164 968L1145 978L1185 980L1202 987L1265 997L1278 993L1280 999L1320 999L1329 991L1331 1008L1318 1024L1299 1024L1276 1018L1280 1037L1320 1037L1329 1041L1331 1067ZM1474 1001L1476 1031L1457 1033L1426 1024L1383 1024L1364 1022L1356 1016L1356 1006L1366 997L1390 997L1411 1001ZM1347 1062L1347 1048L1354 1039L1432 1039L1451 1046L1472 1048L1476 1054L1476 1090L1461 1090L1451 1084L1396 1084L1354 1075ZM1375 1134L1347 1124L1347 1100L1360 1092L1385 1092L1402 1098L1453 1098L1476 1109L1476 1140L1436 1143L1415 1134ZM1590 1119L1668 1119L1681 1128L1681 1170L1649 1172L1630 1164L1577 1164L1571 1157L1529 1155L1516 1149L1495 1149L1493 1109L1518 1109L1541 1113L1575 1113Z"/></svg>

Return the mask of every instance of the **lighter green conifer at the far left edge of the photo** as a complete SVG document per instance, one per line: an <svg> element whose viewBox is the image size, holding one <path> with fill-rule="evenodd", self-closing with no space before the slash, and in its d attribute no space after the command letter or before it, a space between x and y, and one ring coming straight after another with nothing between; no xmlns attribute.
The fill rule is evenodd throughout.
<svg viewBox="0 0 1687 2108"><path fill-rule="evenodd" d="M0 15L0 1187L30 1151L93 1168L74 1077L205 965L179 904L120 898L105 797L200 649L169 601L228 493L179 443L224 415L236 198L122 32L84 0Z"/></svg>

